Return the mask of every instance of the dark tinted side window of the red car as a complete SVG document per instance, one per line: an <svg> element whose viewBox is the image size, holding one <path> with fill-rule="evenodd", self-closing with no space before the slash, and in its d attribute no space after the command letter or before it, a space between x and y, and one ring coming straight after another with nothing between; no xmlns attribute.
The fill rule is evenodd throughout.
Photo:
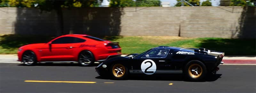
<svg viewBox="0 0 256 93"><path fill-rule="evenodd" d="M75 38L75 37L61 37L52 41L52 44L69 44L69 43L82 43L84 39Z"/></svg>

